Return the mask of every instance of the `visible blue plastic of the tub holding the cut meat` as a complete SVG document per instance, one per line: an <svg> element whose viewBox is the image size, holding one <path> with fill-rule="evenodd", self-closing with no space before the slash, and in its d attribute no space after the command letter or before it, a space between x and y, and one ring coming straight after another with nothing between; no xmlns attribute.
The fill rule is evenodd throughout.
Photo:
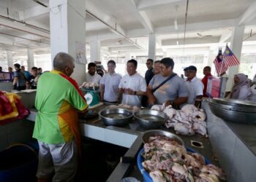
<svg viewBox="0 0 256 182"><path fill-rule="evenodd" d="M193 152L193 153L198 153L197 151L193 150L193 149L189 149L187 148L187 151L190 151L190 152ZM144 161L143 157L142 157L142 153L143 153L144 149L141 149L140 152L138 153L138 157L137 157L137 165L138 165L138 168L140 170L140 173L143 175L143 181L144 182L153 182L152 181L152 178L150 177L150 175L148 174L148 172L146 172L146 170L144 169L143 165L142 165L142 162ZM206 165L208 164L211 164L210 160L206 157L205 158L205 162L206 162Z"/></svg>

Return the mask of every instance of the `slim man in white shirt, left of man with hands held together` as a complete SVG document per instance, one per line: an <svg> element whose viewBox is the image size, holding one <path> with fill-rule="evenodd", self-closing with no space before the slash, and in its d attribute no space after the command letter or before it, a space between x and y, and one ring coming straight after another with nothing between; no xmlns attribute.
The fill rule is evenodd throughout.
<svg viewBox="0 0 256 182"><path fill-rule="evenodd" d="M118 101L118 85L121 76L115 72L116 62L108 61L108 74L100 80L100 100L103 102L116 103Z"/></svg>

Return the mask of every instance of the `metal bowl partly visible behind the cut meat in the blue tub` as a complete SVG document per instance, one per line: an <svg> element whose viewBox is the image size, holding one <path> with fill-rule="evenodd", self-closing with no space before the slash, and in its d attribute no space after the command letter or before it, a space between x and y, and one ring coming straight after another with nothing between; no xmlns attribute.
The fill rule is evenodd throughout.
<svg viewBox="0 0 256 182"><path fill-rule="evenodd" d="M172 138L173 140L184 146L184 141L180 137L178 137L178 135L164 130L148 130L144 132L142 135L143 143L148 143L148 138L150 138L151 136L166 136L167 138Z"/></svg>

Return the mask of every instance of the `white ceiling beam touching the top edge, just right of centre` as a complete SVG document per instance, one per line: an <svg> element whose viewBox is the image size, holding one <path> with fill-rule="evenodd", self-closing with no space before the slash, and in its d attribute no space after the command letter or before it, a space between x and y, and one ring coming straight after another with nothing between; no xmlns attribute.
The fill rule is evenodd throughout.
<svg viewBox="0 0 256 182"><path fill-rule="evenodd" d="M140 0L138 3L139 11L146 11L148 9L153 9L165 4L178 3L183 0Z"/></svg>

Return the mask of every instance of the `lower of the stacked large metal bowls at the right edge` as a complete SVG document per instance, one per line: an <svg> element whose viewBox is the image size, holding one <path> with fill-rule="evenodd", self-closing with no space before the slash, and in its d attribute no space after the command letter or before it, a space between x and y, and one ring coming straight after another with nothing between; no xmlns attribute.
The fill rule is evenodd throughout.
<svg viewBox="0 0 256 182"><path fill-rule="evenodd" d="M230 111L218 106L209 104L211 112L227 122L256 124L256 113Z"/></svg>

